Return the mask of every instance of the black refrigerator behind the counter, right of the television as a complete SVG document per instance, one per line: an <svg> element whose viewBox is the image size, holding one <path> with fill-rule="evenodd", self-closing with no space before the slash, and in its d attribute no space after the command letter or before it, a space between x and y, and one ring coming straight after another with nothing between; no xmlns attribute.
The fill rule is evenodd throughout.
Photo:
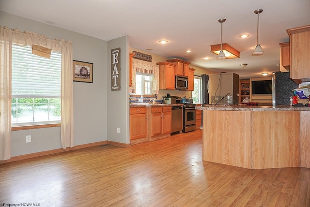
<svg viewBox="0 0 310 207"><path fill-rule="evenodd" d="M290 72L273 72L272 74L272 105L289 105L290 96L294 96L293 89L298 84L290 78Z"/></svg>

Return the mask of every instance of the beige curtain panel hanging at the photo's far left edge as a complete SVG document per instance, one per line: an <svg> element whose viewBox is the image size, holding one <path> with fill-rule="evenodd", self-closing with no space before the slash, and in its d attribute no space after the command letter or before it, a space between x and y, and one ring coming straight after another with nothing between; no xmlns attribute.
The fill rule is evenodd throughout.
<svg viewBox="0 0 310 207"><path fill-rule="evenodd" d="M0 160L11 158L12 31L0 27Z"/></svg>

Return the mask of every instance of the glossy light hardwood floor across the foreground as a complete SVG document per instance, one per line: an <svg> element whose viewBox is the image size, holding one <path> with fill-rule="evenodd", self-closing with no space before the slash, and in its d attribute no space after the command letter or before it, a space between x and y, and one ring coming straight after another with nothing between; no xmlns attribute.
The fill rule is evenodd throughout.
<svg viewBox="0 0 310 207"><path fill-rule="evenodd" d="M0 164L0 204L41 207L309 207L310 169L202 161L202 130Z"/></svg>

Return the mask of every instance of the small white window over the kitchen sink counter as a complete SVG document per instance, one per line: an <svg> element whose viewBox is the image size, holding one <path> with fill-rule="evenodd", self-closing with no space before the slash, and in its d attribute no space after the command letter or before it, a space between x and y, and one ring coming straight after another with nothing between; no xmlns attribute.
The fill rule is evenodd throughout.
<svg viewBox="0 0 310 207"><path fill-rule="evenodd" d="M136 94L152 95L153 74L136 74Z"/></svg>

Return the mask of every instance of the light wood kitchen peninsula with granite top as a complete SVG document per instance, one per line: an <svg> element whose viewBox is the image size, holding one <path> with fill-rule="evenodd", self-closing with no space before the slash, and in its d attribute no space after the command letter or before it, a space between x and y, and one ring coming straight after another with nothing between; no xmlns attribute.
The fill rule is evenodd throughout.
<svg viewBox="0 0 310 207"><path fill-rule="evenodd" d="M197 106L202 160L248 169L310 168L310 108Z"/></svg>

